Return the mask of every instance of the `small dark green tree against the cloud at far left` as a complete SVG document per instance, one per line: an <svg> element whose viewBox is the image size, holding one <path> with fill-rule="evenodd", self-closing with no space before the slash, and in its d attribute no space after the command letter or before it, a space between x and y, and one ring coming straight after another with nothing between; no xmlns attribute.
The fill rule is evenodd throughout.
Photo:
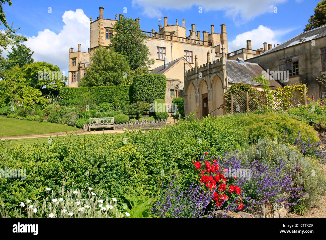
<svg viewBox="0 0 326 240"><path fill-rule="evenodd" d="M18 45L18 46L11 46L12 52L8 54L8 60L9 60L9 67L15 66L16 64L19 65L19 67L24 66L25 64L30 64L34 62L34 59L32 58L33 52L31 52L31 49L26 47L25 44Z"/></svg>

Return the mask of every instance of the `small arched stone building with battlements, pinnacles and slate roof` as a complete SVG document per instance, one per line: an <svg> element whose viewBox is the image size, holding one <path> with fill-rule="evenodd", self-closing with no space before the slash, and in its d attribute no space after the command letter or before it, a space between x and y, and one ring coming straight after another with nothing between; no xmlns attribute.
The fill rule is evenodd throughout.
<svg viewBox="0 0 326 240"><path fill-rule="evenodd" d="M195 63L194 68L184 71L185 117L194 111L194 117L199 119L208 115L223 115L222 108L216 110L223 104L223 93L234 83L244 83L263 90L261 84L251 81L262 71L264 69L257 63L244 62L242 58L226 59L223 48L220 59L210 61L208 56L206 64L198 67ZM272 76L269 78L271 88L282 87Z"/></svg>

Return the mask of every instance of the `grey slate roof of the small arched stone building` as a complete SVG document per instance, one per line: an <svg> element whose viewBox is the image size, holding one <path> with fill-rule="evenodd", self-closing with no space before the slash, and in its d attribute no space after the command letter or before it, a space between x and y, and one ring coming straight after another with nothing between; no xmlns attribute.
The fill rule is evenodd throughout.
<svg viewBox="0 0 326 240"><path fill-rule="evenodd" d="M251 79L258 77L262 74L261 72L265 70L257 63L243 62L241 61L241 59L242 58L238 58L238 61L225 60L228 82L262 86L256 81L251 81ZM272 77L270 77L268 81L270 82L271 87L282 87L282 85L278 81L274 80Z"/></svg>

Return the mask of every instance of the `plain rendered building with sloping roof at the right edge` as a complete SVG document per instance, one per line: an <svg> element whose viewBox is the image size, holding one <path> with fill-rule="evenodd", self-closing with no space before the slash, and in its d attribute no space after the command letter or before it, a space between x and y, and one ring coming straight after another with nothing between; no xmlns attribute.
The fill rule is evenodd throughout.
<svg viewBox="0 0 326 240"><path fill-rule="evenodd" d="M326 74L326 25L312 29L277 45L276 47L246 60L257 63L275 74L284 85L304 83L308 95L315 99L326 98L326 86L316 77Z"/></svg>

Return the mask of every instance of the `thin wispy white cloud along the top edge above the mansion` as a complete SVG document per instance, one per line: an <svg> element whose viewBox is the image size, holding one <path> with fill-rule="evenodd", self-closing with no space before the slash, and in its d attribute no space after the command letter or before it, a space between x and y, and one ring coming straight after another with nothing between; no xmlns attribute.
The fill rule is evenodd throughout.
<svg viewBox="0 0 326 240"><path fill-rule="evenodd" d="M277 4L287 0L132 0L133 7L143 8L143 14L149 17L163 17L161 10L178 9L186 10L193 6L201 7L205 11L225 11L225 16L233 18L236 24L246 22L261 14L272 13Z"/></svg>

